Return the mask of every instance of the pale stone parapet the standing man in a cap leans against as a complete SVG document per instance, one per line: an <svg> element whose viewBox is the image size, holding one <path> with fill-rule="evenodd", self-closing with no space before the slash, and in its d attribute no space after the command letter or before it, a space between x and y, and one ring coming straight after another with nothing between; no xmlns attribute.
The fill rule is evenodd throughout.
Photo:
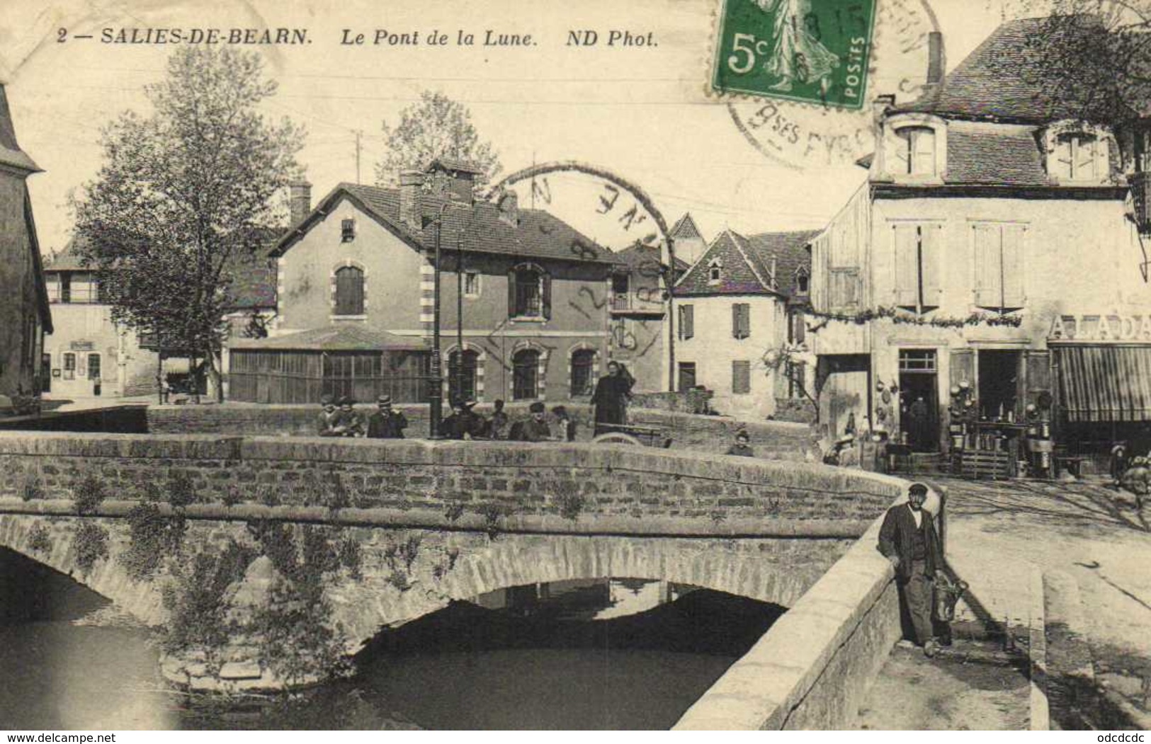
<svg viewBox="0 0 1151 744"><path fill-rule="evenodd" d="M851 726L901 635L894 570L876 550L881 522L688 708L676 729Z"/></svg>

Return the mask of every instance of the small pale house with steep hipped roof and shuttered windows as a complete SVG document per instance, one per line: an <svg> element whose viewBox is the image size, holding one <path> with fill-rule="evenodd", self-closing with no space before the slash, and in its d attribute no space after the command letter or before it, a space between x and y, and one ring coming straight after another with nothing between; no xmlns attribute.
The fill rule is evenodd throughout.
<svg viewBox="0 0 1151 744"><path fill-rule="evenodd" d="M790 312L788 301L807 287L807 245L816 235L725 230L711 241L674 289L677 390L703 385L717 411L741 419L775 414L788 385L764 356L791 338L802 306Z"/></svg>

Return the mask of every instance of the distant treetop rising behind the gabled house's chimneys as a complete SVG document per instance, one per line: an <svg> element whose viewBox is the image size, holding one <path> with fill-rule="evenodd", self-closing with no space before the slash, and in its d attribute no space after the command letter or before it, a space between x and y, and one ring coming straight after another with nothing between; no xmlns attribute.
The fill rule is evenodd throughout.
<svg viewBox="0 0 1151 744"><path fill-rule="evenodd" d="M424 91L418 103L399 113L392 129L383 122L388 154L375 166L375 181L394 185L402 170L424 170L436 158L474 163L483 170L477 185L489 183L503 168L491 143L481 143L472 114L440 92Z"/></svg>

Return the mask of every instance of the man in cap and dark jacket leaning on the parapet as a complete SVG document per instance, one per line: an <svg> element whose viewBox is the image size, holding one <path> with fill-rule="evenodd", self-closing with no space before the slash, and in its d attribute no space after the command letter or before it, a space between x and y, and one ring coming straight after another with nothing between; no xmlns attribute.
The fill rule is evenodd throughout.
<svg viewBox="0 0 1151 744"><path fill-rule="evenodd" d="M931 622L931 590L944 568L943 549L930 512L923 508L928 486L913 483L907 503L887 509L879 528L879 552L895 567L899 598L912 620L916 644L933 657L939 650Z"/></svg>

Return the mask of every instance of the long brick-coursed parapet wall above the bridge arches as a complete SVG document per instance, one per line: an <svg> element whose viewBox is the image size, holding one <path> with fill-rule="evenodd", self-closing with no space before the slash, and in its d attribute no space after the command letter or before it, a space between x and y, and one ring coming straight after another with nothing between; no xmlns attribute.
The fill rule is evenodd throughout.
<svg viewBox="0 0 1151 744"><path fill-rule="evenodd" d="M874 520L900 490L894 480L857 470L628 446L0 432L5 496L20 496L33 482L38 499L71 499L96 476L108 498L135 500L147 484L162 490L177 474L191 480L203 503L468 520L535 515L561 524L595 515L616 519L620 532L657 519L710 523L715 534L798 529L791 534L841 537L843 524ZM825 532L820 522L828 523Z"/></svg>

